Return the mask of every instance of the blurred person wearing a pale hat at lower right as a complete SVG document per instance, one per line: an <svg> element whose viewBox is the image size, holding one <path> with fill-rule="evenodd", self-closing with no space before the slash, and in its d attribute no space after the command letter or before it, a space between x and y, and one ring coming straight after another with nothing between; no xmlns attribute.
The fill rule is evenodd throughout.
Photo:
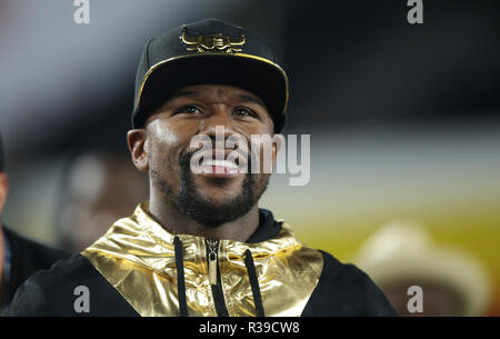
<svg viewBox="0 0 500 339"><path fill-rule="evenodd" d="M483 265L468 252L438 246L427 229L393 221L379 229L353 259L386 293L399 316L486 316L491 282ZM410 300L421 288L420 310ZM409 307L409 302L412 305Z"/></svg>

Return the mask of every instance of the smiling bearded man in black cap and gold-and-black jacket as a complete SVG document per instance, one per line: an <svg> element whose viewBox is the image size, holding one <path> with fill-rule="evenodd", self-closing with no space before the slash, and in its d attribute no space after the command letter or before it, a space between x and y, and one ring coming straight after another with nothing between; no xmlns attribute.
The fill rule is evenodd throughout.
<svg viewBox="0 0 500 339"><path fill-rule="evenodd" d="M272 48L242 28L202 20L151 39L127 136L149 202L36 275L7 315L394 316L367 275L258 208L270 175L244 169L262 158L229 159L232 136L279 133L287 101ZM216 151L200 150L199 136Z"/></svg>

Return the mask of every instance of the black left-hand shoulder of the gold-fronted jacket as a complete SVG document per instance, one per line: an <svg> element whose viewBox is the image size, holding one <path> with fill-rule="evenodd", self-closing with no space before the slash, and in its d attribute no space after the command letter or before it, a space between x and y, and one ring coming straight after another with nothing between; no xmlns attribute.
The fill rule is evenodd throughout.
<svg viewBox="0 0 500 339"><path fill-rule="evenodd" d="M86 296L84 296L86 295ZM86 298L83 301L80 297ZM88 311L81 310L88 302ZM137 316L133 308L81 255L31 276L3 316Z"/></svg>

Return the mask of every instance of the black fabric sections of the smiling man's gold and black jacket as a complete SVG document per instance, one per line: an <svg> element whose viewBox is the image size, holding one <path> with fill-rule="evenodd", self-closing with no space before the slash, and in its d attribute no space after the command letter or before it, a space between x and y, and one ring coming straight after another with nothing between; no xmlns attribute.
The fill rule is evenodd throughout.
<svg viewBox="0 0 500 339"><path fill-rule="evenodd" d="M260 226L250 240L272 239L280 230L272 213L261 210ZM323 270L303 317L397 316L392 306L371 279L353 265L343 265L327 252ZM89 290L89 312L77 312L74 289ZM81 256L74 255L48 271L31 277L16 293L6 316L139 316L107 279Z"/></svg>

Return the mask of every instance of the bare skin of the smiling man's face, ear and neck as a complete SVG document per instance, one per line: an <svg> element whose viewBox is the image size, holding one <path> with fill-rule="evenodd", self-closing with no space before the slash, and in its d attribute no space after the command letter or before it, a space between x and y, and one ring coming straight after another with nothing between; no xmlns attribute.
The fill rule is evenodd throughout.
<svg viewBox="0 0 500 339"><path fill-rule="evenodd" d="M150 173L150 213L157 221L179 233L247 241L259 226L258 203L234 221L209 226L179 210L164 189L151 178L152 175L158 176L168 183L172 195L178 195L181 167L177 159L196 151L190 148L192 137L207 134L216 138L216 126L224 127L226 138L231 133L243 136L249 141L249 149L251 134L273 134L271 116L253 93L231 86L197 84L179 89L151 114L144 128L130 130L127 141L136 168ZM277 151L273 144L273 163ZM200 197L223 206L242 192L246 175L217 179L207 175L192 176ZM260 186L267 185L270 175L254 176L258 176L259 186L256 189L263 191Z"/></svg>

